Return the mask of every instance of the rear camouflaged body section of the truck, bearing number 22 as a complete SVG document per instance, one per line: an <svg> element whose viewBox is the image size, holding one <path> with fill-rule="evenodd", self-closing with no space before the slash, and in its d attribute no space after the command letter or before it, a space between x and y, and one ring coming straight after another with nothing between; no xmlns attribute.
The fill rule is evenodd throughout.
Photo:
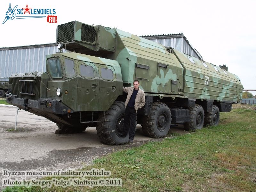
<svg viewBox="0 0 256 192"><path fill-rule="evenodd" d="M242 85L235 76L228 71L226 75L223 69L214 66L211 63L205 62L208 68L204 67L202 61L191 57L195 63L190 62L188 56L184 53L174 50L175 55L186 68L184 95L188 98L196 99L212 99L218 101L233 101L240 100L240 94L237 94L238 89ZM217 72L214 68L217 68Z"/></svg>

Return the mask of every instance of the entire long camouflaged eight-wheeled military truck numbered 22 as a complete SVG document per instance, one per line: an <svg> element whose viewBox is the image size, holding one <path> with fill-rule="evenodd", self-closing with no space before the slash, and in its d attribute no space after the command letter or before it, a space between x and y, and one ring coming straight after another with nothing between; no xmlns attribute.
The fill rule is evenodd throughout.
<svg viewBox="0 0 256 192"><path fill-rule="evenodd" d="M186 55L117 28L72 21L57 26L60 52L46 56L46 72L12 74L8 103L55 122L56 133L96 127L100 141L124 144L122 88L140 81L146 104L137 122L149 137L171 124L186 130L219 124L220 112L242 98L240 79L226 66ZM62 48L70 52L62 53Z"/></svg>

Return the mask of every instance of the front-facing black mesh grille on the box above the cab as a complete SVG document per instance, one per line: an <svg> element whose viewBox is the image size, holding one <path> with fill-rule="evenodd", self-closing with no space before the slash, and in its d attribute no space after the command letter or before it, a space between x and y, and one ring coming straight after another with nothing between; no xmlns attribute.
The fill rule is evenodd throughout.
<svg viewBox="0 0 256 192"><path fill-rule="evenodd" d="M58 26L57 43L74 40L75 21Z"/></svg>

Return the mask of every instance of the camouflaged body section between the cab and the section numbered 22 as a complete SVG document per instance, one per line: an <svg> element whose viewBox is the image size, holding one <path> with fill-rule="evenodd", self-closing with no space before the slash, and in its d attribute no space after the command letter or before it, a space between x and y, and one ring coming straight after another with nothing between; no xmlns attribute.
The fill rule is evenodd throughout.
<svg viewBox="0 0 256 192"><path fill-rule="evenodd" d="M182 87L183 80L175 85L175 89L173 89L172 80L177 81L180 75L183 76L183 68L173 54L167 52L163 45L119 29L116 29L116 32L117 42L121 41L124 45L124 49L116 57L116 60L121 63L124 83L132 84L133 80L138 79L145 92L165 94L176 92L179 94L178 88ZM127 52L130 57L127 56ZM127 58L129 58L129 63L125 62ZM166 65L167 68L158 66L158 63ZM128 64L129 71L127 71ZM137 64L148 67L148 69L140 68Z"/></svg>

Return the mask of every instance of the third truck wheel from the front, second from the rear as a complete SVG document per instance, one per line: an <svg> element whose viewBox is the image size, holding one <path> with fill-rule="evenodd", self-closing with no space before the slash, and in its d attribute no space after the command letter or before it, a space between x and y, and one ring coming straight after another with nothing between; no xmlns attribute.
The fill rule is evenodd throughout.
<svg viewBox="0 0 256 192"><path fill-rule="evenodd" d="M201 105L196 104L195 107L189 108L190 122L184 123L187 131L202 129L204 125L204 109Z"/></svg>

